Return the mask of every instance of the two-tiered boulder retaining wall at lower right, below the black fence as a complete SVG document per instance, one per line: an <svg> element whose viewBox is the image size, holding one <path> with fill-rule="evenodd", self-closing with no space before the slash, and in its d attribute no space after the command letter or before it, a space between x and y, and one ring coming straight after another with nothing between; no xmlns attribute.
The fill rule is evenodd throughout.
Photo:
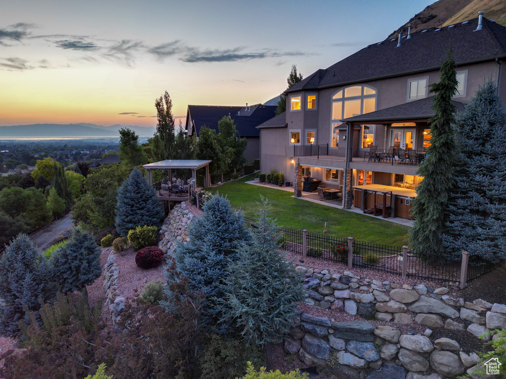
<svg viewBox="0 0 506 379"><path fill-rule="evenodd" d="M468 373L476 377L478 355L462 351L458 342L448 338L432 341L432 329L446 328L478 337L506 328L505 305L481 299L465 302L446 295L449 290L444 287L399 286L349 271L296 269L304 275L306 303L393 325L374 327L362 320L331 322L302 313L285 340L285 351L298 354L308 365L326 366L338 376L437 379ZM423 335L413 329L402 334L401 324L419 324L426 330ZM490 336L485 337L488 339Z"/></svg>

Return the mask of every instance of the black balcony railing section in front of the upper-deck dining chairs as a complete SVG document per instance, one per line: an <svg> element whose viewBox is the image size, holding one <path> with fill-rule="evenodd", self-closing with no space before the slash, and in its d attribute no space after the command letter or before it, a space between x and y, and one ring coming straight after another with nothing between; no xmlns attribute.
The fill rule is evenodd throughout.
<svg viewBox="0 0 506 379"><path fill-rule="evenodd" d="M403 150L403 149L350 149L351 161L371 162L391 165L417 166L425 158L424 150Z"/></svg>

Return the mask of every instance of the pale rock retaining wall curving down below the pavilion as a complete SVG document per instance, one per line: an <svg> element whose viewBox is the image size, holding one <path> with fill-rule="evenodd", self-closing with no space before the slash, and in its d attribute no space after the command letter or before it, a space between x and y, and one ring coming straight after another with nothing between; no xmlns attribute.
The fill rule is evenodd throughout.
<svg viewBox="0 0 506 379"><path fill-rule="evenodd" d="M188 241L187 228L191 220L196 217L190 211L186 202L178 204L163 221L160 229L160 242L158 247L168 255L174 253L176 242Z"/></svg>

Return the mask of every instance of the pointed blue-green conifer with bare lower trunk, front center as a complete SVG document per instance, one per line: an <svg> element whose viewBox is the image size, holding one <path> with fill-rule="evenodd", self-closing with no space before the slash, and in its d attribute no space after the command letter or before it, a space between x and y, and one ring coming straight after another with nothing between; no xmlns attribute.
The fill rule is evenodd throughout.
<svg viewBox="0 0 506 379"><path fill-rule="evenodd" d="M293 263L280 252L280 235L269 217L267 200L257 212L258 228L251 229L251 243L243 243L225 276L225 304L231 309L241 334L251 345L264 346L267 369L272 370L271 344L293 326L302 286Z"/></svg>

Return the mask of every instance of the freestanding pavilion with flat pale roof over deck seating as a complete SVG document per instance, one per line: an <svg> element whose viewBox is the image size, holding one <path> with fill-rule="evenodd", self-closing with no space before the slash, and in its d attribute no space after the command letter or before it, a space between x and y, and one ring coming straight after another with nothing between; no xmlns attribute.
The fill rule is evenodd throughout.
<svg viewBox="0 0 506 379"><path fill-rule="evenodd" d="M160 200L168 201L188 201L189 190L197 189L197 170L205 167L204 175L204 186L208 187L211 184L211 178L209 175L209 163L208 160L194 160L194 159L167 159L164 161L148 163L143 167L148 171L149 185L156 189L156 195ZM191 170L191 179L188 183L184 182L184 179L178 178L179 183L173 183L173 170ZM153 170L164 170L163 174L160 175L153 182Z"/></svg>

